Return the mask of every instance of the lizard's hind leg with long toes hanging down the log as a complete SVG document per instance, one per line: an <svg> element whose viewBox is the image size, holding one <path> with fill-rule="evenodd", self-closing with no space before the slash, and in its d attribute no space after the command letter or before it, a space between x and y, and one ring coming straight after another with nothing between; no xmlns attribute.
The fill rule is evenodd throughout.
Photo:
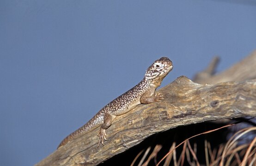
<svg viewBox="0 0 256 166"><path fill-rule="evenodd" d="M99 142L98 142L98 147L101 144L104 145L104 140L107 141L106 138L106 129L110 127L112 121L116 118L116 115L113 115L111 113L105 113L104 114L104 123L100 126L100 130L98 133L99 136Z"/></svg>

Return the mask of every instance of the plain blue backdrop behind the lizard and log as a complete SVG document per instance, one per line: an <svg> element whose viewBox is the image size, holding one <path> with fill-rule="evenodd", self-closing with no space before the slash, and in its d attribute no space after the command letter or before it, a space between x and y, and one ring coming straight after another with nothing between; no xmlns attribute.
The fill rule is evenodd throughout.
<svg viewBox="0 0 256 166"><path fill-rule="evenodd" d="M162 86L256 49L252 0L0 0L0 165L52 153L162 56Z"/></svg>

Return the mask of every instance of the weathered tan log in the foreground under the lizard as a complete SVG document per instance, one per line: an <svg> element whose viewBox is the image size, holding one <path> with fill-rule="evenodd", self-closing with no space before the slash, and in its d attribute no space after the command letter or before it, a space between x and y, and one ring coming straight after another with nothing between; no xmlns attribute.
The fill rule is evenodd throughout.
<svg viewBox="0 0 256 166"><path fill-rule="evenodd" d="M187 77L158 90L165 99L116 117L97 148L98 128L67 143L36 166L97 165L154 133L216 119L256 116L256 80L198 84Z"/></svg>

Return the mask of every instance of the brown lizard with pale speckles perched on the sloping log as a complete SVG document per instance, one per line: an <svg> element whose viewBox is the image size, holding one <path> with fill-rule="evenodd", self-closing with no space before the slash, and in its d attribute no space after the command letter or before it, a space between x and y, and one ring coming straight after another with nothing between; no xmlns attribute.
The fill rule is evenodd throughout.
<svg viewBox="0 0 256 166"><path fill-rule="evenodd" d="M85 125L63 139L58 148L99 126L98 147L100 143L104 145L104 140L107 141L106 129L110 127L116 116L128 113L139 104L150 104L164 99L164 96L156 93L155 90L161 85L172 68L172 62L169 58L162 57L156 60L148 67L145 77L140 83L103 107Z"/></svg>

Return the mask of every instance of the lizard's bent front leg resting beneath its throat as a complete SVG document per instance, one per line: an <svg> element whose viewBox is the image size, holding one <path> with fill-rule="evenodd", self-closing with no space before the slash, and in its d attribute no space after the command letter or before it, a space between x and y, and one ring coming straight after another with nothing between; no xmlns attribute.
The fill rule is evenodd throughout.
<svg viewBox="0 0 256 166"><path fill-rule="evenodd" d="M155 89L148 89L143 95L140 97L140 103L142 104L150 104L153 102L157 102L164 99L162 94L157 94Z"/></svg>

